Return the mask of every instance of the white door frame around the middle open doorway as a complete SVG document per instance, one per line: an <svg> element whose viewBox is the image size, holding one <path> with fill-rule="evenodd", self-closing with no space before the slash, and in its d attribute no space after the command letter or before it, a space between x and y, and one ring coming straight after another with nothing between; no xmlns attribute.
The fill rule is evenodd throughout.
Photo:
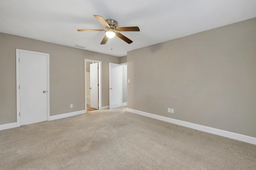
<svg viewBox="0 0 256 170"><path fill-rule="evenodd" d="M101 110L102 107L102 102L101 102L101 96L102 96L102 86L101 86L101 69L102 69L102 64L101 61L98 60L91 60L91 59L84 59L84 106L85 106L85 113L87 112L86 108L86 62L94 62L98 63L99 67L99 110Z"/></svg>

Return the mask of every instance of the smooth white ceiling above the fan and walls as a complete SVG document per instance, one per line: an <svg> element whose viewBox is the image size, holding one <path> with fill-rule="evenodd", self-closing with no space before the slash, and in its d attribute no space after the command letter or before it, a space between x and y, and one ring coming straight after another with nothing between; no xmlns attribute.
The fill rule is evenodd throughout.
<svg viewBox="0 0 256 170"><path fill-rule="evenodd" d="M138 26L100 45L104 29L93 15ZM121 57L127 51L256 17L256 0L1 0L0 32ZM76 47L77 48L77 47Z"/></svg>

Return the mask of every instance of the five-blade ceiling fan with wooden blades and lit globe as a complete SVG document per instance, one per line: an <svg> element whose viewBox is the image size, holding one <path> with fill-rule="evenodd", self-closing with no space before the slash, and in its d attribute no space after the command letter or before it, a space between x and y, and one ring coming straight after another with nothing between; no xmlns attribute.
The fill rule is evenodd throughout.
<svg viewBox="0 0 256 170"><path fill-rule="evenodd" d="M128 39L126 36L122 35L118 31L140 31L139 27L117 27L117 21L112 19L104 20L102 16L94 17L100 21L100 23L106 28L104 29L78 29L77 31L105 31L105 36L102 39L100 44L106 44L109 38L113 38L114 36L119 37L120 39L124 40L126 43L132 43L132 40Z"/></svg>

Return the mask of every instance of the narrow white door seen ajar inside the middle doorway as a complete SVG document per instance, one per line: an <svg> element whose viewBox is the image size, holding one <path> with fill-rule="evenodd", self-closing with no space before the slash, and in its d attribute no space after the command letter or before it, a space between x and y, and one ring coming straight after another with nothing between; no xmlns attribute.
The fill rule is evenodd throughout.
<svg viewBox="0 0 256 170"><path fill-rule="evenodd" d="M99 73L98 63L90 64L90 98L91 108L99 109Z"/></svg>

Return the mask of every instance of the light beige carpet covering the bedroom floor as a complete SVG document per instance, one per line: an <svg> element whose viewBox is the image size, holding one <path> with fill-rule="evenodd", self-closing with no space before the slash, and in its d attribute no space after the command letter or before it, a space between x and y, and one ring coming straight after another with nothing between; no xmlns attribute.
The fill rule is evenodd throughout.
<svg viewBox="0 0 256 170"><path fill-rule="evenodd" d="M125 107L0 131L1 170L250 170L256 145Z"/></svg>

